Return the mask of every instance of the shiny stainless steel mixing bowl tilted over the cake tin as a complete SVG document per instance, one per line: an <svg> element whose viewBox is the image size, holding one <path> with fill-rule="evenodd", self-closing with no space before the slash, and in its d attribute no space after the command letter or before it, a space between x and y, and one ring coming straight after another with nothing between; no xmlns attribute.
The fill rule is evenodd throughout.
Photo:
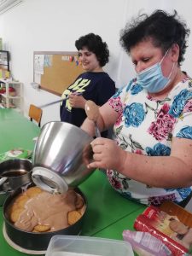
<svg viewBox="0 0 192 256"><path fill-rule="evenodd" d="M40 132L32 154L32 180L49 192L67 191L90 176L90 137L79 127L65 122L49 122Z"/></svg>

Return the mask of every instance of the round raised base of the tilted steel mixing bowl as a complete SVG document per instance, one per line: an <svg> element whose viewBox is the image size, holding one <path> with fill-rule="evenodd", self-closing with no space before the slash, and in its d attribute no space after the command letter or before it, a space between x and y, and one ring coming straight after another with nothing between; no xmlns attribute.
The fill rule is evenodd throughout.
<svg viewBox="0 0 192 256"><path fill-rule="evenodd" d="M49 193L66 193L68 185L65 180L57 173L42 166L32 168L32 181L40 189Z"/></svg>

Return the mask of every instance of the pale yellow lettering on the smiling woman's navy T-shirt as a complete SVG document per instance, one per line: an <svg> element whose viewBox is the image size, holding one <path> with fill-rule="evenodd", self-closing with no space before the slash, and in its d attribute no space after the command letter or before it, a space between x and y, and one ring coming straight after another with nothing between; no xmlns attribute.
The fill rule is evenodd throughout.
<svg viewBox="0 0 192 256"><path fill-rule="evenodd" d="M89 79L77 79L74 84L71 84L66 90L64 90L61 99L66 99L71 93L83 93L85 88L90 84ZM62 104L62 102L61 102ZM66 108L71 112L72 107L69 104L69 100L66 101Z"/></svg>

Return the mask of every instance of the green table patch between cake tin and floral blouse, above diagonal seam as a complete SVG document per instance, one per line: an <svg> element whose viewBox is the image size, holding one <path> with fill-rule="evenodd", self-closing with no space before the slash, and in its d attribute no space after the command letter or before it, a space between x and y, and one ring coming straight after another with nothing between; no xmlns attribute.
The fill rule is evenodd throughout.
<svg viewBox="0 0 192 256"><path fill-rule="evenodd" d="M95 236L110 224L143 208L137 202L129 201L119 195L108 183L106 175L95 171L89 179L79 186L88 201L88 210L84 219L82 235ZM119 239L122 239L120 237Z"/></svg>

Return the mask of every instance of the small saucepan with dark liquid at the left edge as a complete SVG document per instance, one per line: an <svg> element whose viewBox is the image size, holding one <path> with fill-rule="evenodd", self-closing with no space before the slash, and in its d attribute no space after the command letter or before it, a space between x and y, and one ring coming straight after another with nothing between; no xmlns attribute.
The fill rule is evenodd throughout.
<svg viewBox="0 0 192 256"><path fill-rule="evenodd" d="M0 163L0 205L11 191L32 182L30 160L14 159Z"/></svg>

